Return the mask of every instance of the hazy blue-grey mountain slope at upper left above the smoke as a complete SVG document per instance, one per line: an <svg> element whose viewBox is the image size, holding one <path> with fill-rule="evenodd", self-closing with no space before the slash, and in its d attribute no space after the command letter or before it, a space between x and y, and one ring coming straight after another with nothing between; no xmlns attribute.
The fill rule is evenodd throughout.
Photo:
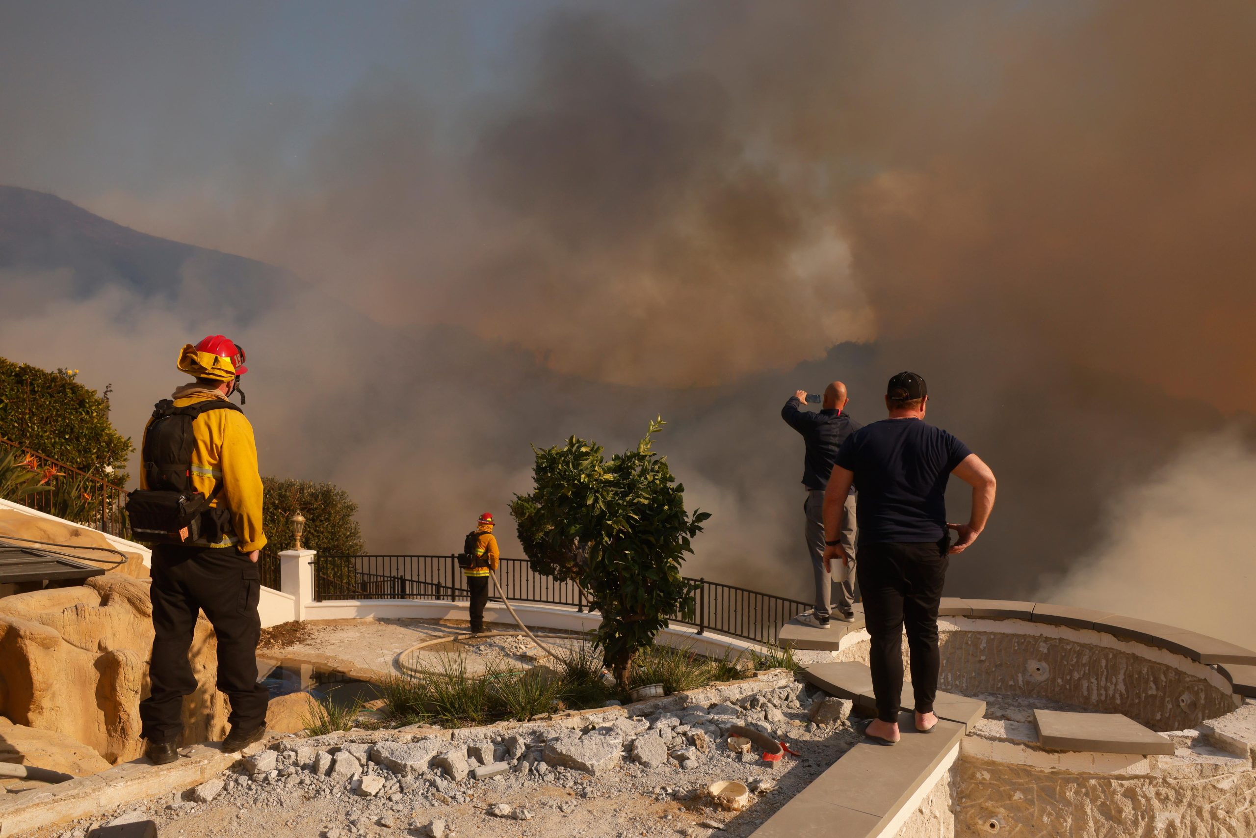
<svg viewBox="0 0 1256 838"><path fill-rule="evenodd" d="M146 299L192 298L245 320L293 283L271 265L138 232L16 186L0 186L0 271L64 271L80 295L117 284Z"/></svg>

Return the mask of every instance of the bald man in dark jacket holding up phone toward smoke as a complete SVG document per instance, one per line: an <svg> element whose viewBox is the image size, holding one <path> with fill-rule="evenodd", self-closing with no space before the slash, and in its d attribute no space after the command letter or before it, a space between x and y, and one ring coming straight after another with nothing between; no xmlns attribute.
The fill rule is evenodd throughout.
<svg viewBox="0 0 1256 838"><path fill-rule="evenodd" d="M826 531L834 533L831 538L845 548L848 555L854 557L855 494L854 489L850 489L843 500L847 514L840 529L825 530L824 487L829 482L829 472L833 471L833 460L838 456L838 449L853 431L859 428L859 423L847 415L847 386L840 381L824 388L819 412L813 413L805 407L806 391L800 389L781 408L781 418L801 433L803 441L806 443L806 456L803 460L803 485L806 487L806 500L803 503L803 514L806 516L804 534L815 579L815 609L803 612L796 619L815 628L828 628L830 618L835 617L847 623L854 619L854 568L838 585L838 603L834 608L831 603L833 574L824 563L824 534Z"/></svg>

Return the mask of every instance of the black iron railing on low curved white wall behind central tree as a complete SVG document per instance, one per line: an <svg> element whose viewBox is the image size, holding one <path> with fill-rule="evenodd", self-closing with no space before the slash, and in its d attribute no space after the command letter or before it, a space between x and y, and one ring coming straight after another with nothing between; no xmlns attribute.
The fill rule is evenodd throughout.
<svg viewBox="0 0 1256 838"><path fill-rule="evenodd" d="M526 559L501 559L497 579L511 602L589 607L573 582L556 582L533 572ZM776 643L776 632L811 606L798 599L721 582L693 583L693 613L673 614L672 622ZM496 592L494 592L496 594ZM465 602L466 584L452 555L318 555L314 559L314 599L445 599Z"/></svg>

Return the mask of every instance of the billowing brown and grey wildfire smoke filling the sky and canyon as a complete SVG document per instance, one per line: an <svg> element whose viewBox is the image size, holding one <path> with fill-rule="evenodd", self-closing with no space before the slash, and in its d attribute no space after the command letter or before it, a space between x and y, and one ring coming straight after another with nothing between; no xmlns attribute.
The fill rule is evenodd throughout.
<svg viewBox="0 0 1256 838"><path fill-rule="evenodd" d="M230 334L264 471L344 485L373 550L452 552L529 443L662 413L715 514L691 572L793 596L780 406L842 378L872 421L911 368L1000 477L948 593L1256 642L1251 5L382 9L259 45L9 8L0 182L288 273L10 260L0 354L112 382L138 436Z"/></svg>

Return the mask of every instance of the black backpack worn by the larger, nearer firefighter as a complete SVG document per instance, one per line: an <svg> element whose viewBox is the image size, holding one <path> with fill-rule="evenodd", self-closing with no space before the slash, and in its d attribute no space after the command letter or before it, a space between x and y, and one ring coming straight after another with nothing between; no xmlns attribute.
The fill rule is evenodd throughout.
<svg viewBox="0 0 1256 838"><path fill-rule="evenodd" d="M148 487L131 492L127 499L131 531L137 540L215 544L231 531L231 510L210 506L222 490L221 480L215 480L208 495L192 487L192 450L196 446L192 422L201 413L219 410L239 411L240 406L212 398L175 407L175 402L165 398L153 407L153 421L144 433L142 451Z"/></svg>

